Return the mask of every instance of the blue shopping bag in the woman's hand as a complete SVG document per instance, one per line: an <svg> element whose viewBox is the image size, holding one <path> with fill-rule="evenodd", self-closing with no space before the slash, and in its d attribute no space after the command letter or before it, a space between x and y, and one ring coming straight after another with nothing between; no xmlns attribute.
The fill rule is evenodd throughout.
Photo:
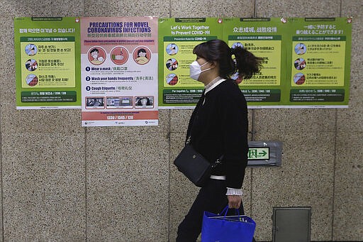
<svg viewBox="0 0 363 242"><path fill-rule="evenodd" d="M204 211L201 228L201 242L251 242L255 233L256 223L250 217L240 215L226 216L228 206L213 214Z"/></svg>

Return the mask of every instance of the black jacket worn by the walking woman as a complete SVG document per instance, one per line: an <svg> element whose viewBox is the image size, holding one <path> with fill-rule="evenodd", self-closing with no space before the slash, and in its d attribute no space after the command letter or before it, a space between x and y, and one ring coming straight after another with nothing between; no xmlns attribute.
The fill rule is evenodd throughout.
<svg viewBox="0 0 363 242"><path fill-rule="evenodd" d="M199 99L187 136L191 136L193 147L209 162L224 155L212 175L225 175L227 187L241 188L247 166L247 132L245 97L238 85L227 79Z"/></svg>

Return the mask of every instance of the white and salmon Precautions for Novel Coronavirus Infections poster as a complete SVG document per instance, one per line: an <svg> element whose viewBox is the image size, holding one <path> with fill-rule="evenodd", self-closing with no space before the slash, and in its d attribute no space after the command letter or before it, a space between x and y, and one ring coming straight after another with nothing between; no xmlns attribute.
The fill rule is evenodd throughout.
<svg viewBox="0 0 363 242"><path fill-rule="evenodd" d="M157 18L82 18L82 126L157 126Z"/></svg>

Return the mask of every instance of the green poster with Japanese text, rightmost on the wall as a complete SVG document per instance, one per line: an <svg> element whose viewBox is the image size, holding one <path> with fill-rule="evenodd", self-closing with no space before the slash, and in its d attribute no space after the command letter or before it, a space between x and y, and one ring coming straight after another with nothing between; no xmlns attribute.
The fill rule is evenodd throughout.
<svg viewBox="0 0 363 242"><path fill-rule="evenodd" d="M289 105L347 107L352 18L288 18Z"/></svg>

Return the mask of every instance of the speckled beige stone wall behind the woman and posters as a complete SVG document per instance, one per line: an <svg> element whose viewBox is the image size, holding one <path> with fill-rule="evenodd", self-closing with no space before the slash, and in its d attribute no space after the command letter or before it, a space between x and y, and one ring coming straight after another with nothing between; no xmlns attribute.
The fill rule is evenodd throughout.
<svg viewBox="0 0 363 242"><path fill-rule="evenodd" d="M1 8L0 241L174 241L197 192L172 165L189 109L160 110L157 127L108 128L82 128L79 110L17 111L14 16L353 16L349 109L255 110L255 139L282 141L284 158L282 167L247 169L244 202L260 241L272 238L272 207L286 206L312 207L313 241L362 240L363 1L1 0Z"/></svg>

